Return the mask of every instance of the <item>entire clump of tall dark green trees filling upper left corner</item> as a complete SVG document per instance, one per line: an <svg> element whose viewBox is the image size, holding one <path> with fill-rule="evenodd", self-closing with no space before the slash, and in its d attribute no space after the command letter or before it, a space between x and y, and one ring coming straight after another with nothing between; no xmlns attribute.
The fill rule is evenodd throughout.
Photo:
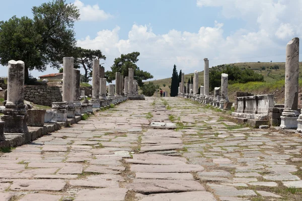
<svg viewBox="0 0 302 201"><path fill-rule="evenodd" d="M0 62L11 59L25 63L25 82L28 70L44 71L48 66L59 69L64 56L72 56L76 40L73 24L80 12L65 0L53 0L32 8L33 20L12 17L0 22Z"/></svg>

